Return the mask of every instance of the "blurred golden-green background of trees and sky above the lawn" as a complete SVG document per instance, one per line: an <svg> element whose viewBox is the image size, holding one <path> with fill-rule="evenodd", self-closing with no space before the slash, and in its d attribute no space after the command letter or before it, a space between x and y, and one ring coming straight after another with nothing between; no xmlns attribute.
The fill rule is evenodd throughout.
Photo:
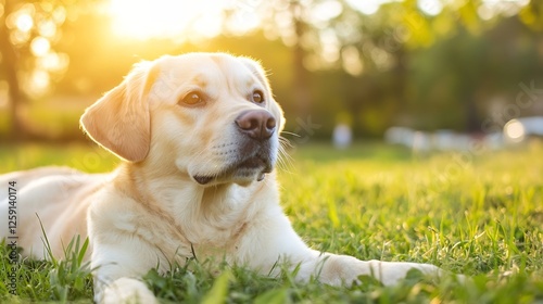
<svg viewBox="0 0 543 304"><path fill-rule="evenodd" d="M0 143L85 141L134 63L192 51L261 60L299 143L543 135L540 0L0 0Z"/></svg>

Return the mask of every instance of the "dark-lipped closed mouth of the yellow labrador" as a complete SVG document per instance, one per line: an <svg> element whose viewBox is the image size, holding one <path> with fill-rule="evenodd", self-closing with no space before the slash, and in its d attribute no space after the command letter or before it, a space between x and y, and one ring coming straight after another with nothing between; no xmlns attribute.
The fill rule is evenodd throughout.
<svg viewBox="0 0 543 304"><path fill-rule="evenodd" d="M253 155L241 159L232 163L225 169L215 175L194 175L192 178L200 185L209 185L214 180L248 180L256 177L257 181L262 181L267 173L273 170L272 160L262 155Z"/></svg>

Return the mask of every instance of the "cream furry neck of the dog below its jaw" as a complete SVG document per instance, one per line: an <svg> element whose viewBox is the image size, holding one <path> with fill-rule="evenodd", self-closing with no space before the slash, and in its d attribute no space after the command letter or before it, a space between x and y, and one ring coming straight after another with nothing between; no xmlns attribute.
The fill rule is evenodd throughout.
<svg viewBox="0 0 543 304"><path fill-rule="evenodd" d="M210 236L209 230L230 231L232 236L215 233L222 241L233 237L248 218L254 217L262 208L260 193L270 187L267 185L270 177L248 187L235 183L202 187L188 175L148 166L144 163L121 165L114 187L148 212L178 227L194 244L201 242L200 236Z"/></svg>

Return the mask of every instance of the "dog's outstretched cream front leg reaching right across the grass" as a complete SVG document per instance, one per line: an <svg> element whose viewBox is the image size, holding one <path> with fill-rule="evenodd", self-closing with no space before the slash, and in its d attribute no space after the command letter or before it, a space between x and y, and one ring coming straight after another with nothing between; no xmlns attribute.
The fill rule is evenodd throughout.
<svg viewBox="0 0 543 304"><path fill-rule="evenodd" d="M320 253L307 248L285 215L276 214L261 220L266 223L266 229L255 229L248 233L247 243L240 249L247 248L249 251L254 240L258 240L261 250L250 255L256 264L254 267L264 271L269 269L269 265L285 261L292 269L296 268L296 279L300 281L317 278L332 286L352 284L358 281L359 276L370 276L390 286L405 278L411 269L418 269L424 275L432 277L440 277L443 274L439 267L429 264L359 261L348 255ZM268 266L262 267L262 265ZM272 274L277 275L278 270L275 269Z"/></svg>

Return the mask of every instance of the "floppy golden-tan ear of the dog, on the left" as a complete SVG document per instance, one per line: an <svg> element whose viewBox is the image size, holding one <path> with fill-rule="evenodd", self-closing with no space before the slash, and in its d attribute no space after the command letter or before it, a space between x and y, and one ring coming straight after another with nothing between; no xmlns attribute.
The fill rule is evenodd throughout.
<svg viewBox="0 0 543 304"><path fill-rule="evenodd" d="M79 123L90 138L126 161L146 159L151 141L148 94L157 74L157 65L138 63L121 85L89 106Z"/></svg>

